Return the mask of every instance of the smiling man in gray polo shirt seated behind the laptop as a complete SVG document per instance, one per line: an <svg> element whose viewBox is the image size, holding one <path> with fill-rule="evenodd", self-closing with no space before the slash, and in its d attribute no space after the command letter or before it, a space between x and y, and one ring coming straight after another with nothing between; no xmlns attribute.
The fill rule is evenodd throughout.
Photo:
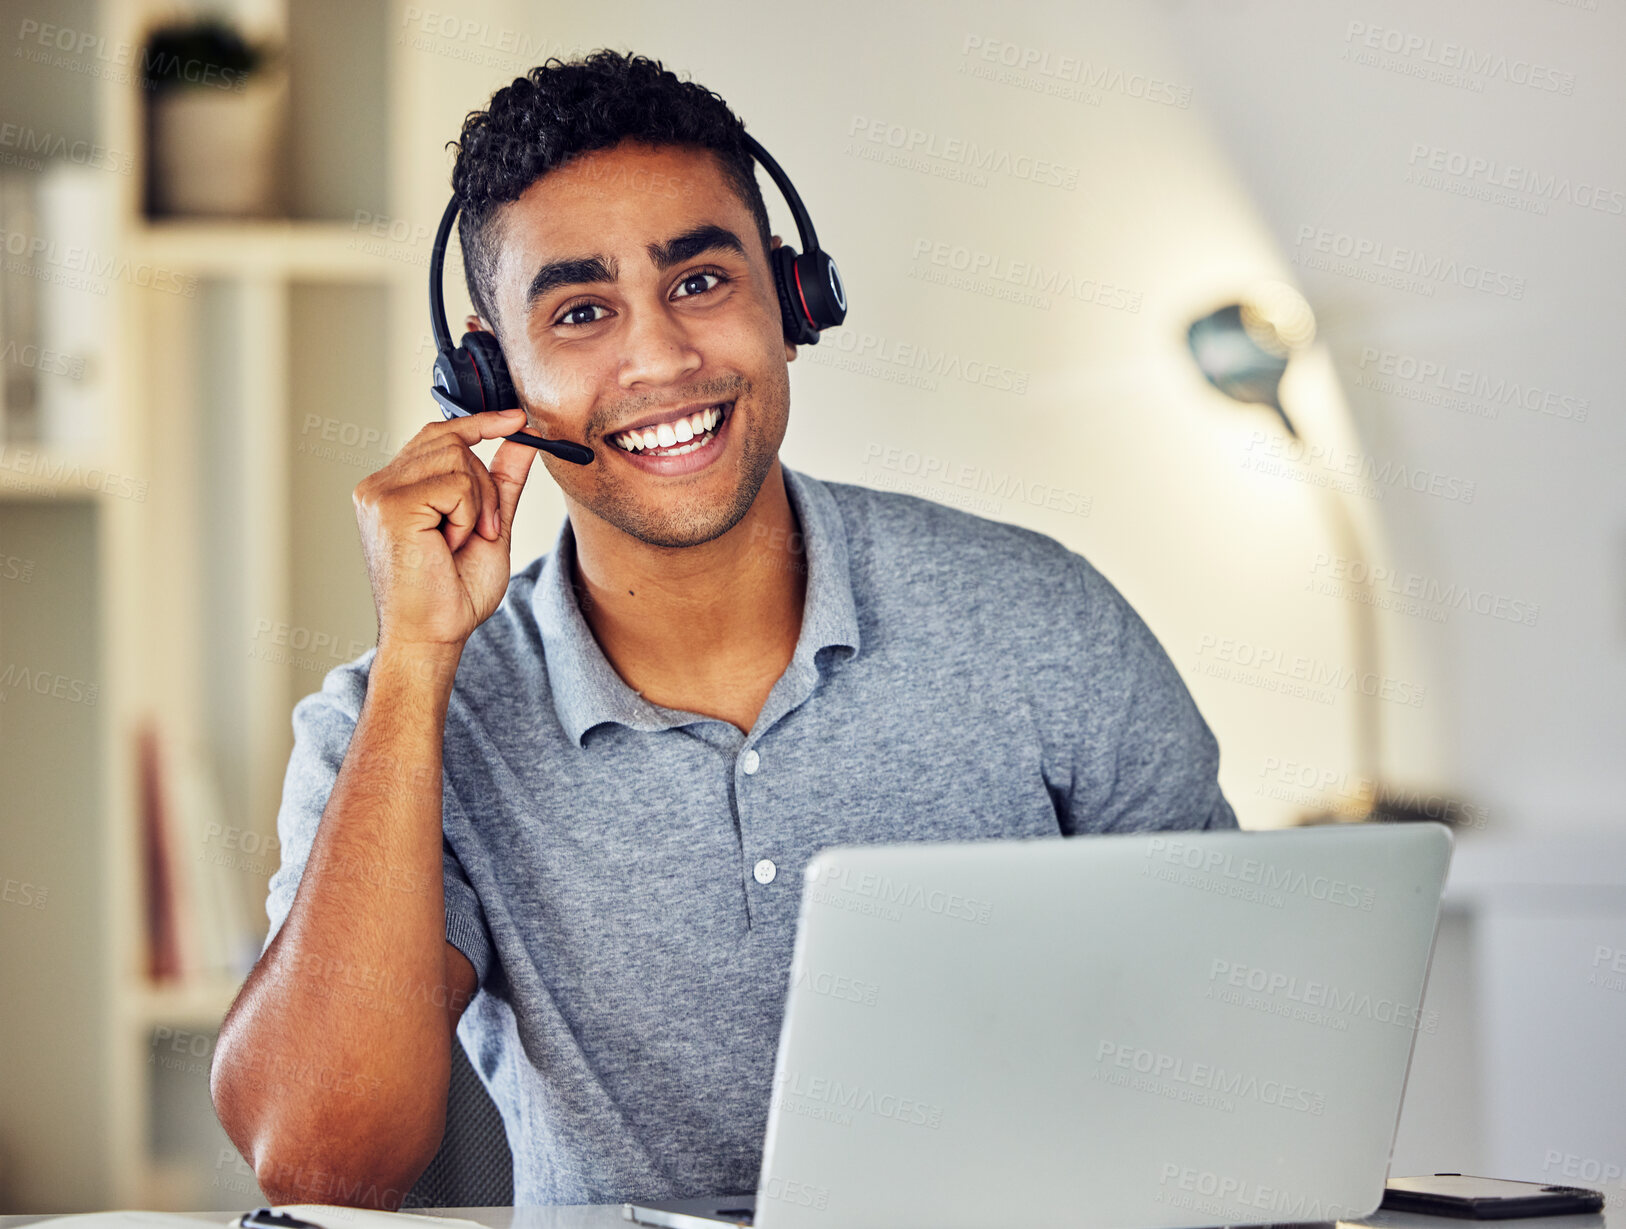
<svg viewBox="0 0 1626 1229"><path fill-rule="evenodd" d="M795 348L741 132L610 52L463 125L470 328L525 410L356 488L379 644L294 709L272 938L213 1071L278 1201L395 1206L460 1021L515 1203L751 1190L818 849L1236 826L1081 556L780 465ZM537 454L470 445L522 424L597 457L543 458L567 519L511 577Z"/></svg>

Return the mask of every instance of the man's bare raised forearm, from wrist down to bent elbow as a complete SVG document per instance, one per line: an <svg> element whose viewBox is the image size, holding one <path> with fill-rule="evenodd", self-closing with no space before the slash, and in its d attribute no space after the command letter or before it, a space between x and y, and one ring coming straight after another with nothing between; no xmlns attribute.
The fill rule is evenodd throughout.
<svg viewBox="0 0 1626 1229"><path fill-rule="evenodd" d="M216 1112L280 1200L410 1183L439 1144L462 1006L441 868L455 667L455 649L374 658L298 896L221 1027Z"/></svg>

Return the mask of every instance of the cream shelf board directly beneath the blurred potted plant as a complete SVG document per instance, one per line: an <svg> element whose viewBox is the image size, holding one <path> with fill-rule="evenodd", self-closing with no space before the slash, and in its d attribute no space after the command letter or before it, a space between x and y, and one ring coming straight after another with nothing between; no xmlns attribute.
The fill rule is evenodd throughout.
<svg viewBox="0 0 1626 1229"><path fill-rule="evenodd" d="M135 224L127 236L132 260L195 276L389 283L424 276L429 268L428 237L379 237L366 216L356 223L166 219Z"/></svg>

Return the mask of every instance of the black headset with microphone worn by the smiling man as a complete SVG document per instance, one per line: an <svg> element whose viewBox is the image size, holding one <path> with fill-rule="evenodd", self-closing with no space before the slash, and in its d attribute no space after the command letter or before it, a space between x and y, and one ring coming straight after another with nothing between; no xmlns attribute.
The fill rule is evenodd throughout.
<svg viewBox="0 0 1626 1229"><path fill-rule="evenodd" d="M790 216L797 221L802 247L806 249L803 255L797 255L793 247L780 244L767 254L774 289L779 293L779 319L785 341L793 346L816 346L821 328L833 328L847 319L847 289L841 284L836 262L820 250L813 219L802 206L802 197L797 195L789 176L779 169L779 163L756 140L746 133L741 137L751 154L767 169L784 193L790 205ZM502 346L498 345L496 337L478 330L463 333L462 343L452 346L452 330L446 325L446 299L441 283L446 276L446 242L452 234L457 210L459 200L454 195L441 216L441 228L434 232L434 252L429 257L429 328L434 330L434 343L439 348L434 359L434 385L429 392L441 403L441 413L446 418L519 408L514 379L509 376L507 359L502 358ZM507 439L530 444L533 449L541 449L577 465L587 465L593 458L592 449L567 439L541 439L540 436L527 436L524 431L507 436Z"/></svg>

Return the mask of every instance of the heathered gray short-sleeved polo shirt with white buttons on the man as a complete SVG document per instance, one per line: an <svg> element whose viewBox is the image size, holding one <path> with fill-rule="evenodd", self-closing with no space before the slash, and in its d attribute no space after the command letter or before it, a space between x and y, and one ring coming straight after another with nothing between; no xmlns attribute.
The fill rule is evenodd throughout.
<svg viewBox="0 0 1626 1229"><path fill-rule="evenodd" d="M1180 676L1083 556L782 468L806 605L750 733L621 681L576 603L567 517L465 645L446 936L480 974L459 1036L517 1205L756 1188L802 871L824 845L1236 827ZM294 707L273 935L371 662Z"/></svg>

